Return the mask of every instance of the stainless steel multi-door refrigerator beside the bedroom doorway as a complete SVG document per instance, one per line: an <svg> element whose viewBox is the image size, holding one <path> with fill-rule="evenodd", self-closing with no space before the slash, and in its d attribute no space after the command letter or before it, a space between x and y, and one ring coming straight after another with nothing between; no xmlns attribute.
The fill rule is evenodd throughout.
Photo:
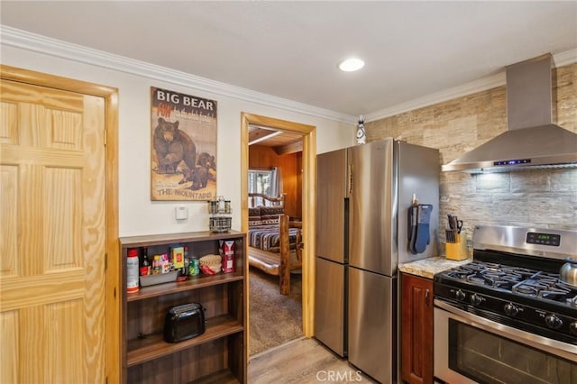
<svg viewBox="0 0 577 384"><path fill-rule="evenodd" d="M393 139L316 158L315 336L381 383L397 380L398 263L437 254L439 169L437 150ZM414 197L432 206L418 252Z"/></svg>

